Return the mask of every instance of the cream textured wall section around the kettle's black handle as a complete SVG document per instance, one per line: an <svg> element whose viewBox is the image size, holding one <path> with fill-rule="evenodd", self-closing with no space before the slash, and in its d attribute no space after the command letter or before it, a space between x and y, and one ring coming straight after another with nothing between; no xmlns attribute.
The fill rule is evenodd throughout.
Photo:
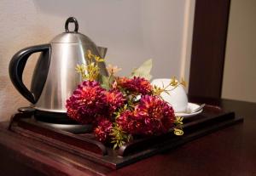
<svg viewBox="0 0 256 176"><path fill-rule="evenodd" d="M10 82L9 61L21 48L48 43L55 32L41 22L41 14L37 14L32 2L3 0L1 6L0 121L6 121L18 107L29 105ZM32 55L26 63L23 82L28 88L37 58L36 54Z"/></svg>

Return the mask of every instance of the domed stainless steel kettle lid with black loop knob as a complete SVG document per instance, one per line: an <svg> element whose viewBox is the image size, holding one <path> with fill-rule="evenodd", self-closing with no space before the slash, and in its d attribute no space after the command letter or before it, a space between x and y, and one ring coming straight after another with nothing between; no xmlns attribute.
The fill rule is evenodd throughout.
<svg viewBox="0 0 256 176"><path fill-rule="evenodd" d="M74 31L69 31L69 23L74 23ZM69 17L65 23L65 32L54 37L50 43L83 43L83 44L94 44L89 37L79 33L79 23L74 17Z"/></svg>

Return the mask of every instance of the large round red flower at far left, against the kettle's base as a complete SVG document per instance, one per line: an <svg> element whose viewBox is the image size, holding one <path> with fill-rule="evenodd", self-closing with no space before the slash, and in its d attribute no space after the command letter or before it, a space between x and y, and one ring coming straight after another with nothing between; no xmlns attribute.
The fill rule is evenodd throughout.
<svg viewBox="0 0 256 176"><path fill-rule="evenodd" d="M82 82L67 99L67 115L84 124L93 122L96 115L103 115L106 111L104 92L98 82Z"/></svg>

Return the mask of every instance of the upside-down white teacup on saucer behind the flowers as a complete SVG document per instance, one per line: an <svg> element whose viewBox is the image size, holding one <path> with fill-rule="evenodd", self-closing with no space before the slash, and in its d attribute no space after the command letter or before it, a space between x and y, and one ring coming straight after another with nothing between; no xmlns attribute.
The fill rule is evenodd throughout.
<svg viewBox="0 0 256 176"><path fill-rule="evenodd" d="M151 84L159 88L166 88L170 82L171 79L161 78L154 79ZM161 93L161 98L170 103L175 112L187 111L188 96L183 85L178 85L177 88L170 85L166 90L168 94L166 92Z"/></svg>

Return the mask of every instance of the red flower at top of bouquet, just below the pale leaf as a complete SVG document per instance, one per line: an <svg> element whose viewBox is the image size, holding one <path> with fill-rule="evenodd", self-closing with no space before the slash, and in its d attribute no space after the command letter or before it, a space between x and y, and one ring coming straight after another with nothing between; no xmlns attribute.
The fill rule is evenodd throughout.
<svg viewBox="0 0 256 176"><path fill-rule="evenodd" d="M144 77L119 77L117 83L120 88L133 93L133 94L151 94L152 86Z"/></svg>

